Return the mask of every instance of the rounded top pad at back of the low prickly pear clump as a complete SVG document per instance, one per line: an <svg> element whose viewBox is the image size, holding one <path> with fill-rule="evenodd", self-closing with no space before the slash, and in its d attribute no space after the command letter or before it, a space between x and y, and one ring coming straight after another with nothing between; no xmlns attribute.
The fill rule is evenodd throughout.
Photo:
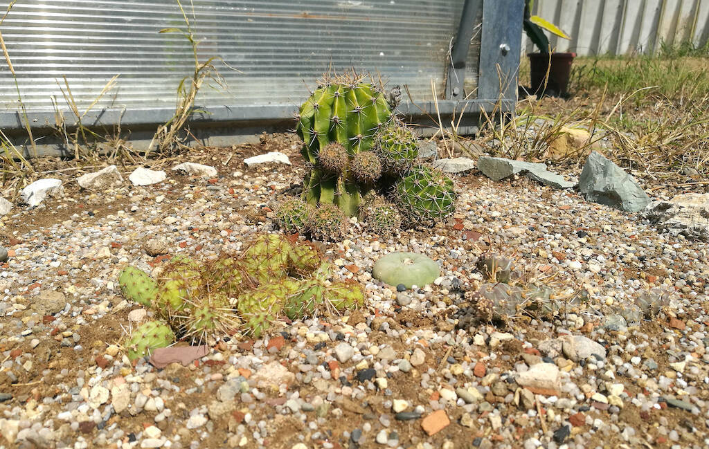
<svg viewBox="0 0 709 449"><path fill-rule="evenodd" d="M240 261L245 271L259 283L283 278L288 273L288 256L293 246L284 236L262 234L247 244Z"/></svg>

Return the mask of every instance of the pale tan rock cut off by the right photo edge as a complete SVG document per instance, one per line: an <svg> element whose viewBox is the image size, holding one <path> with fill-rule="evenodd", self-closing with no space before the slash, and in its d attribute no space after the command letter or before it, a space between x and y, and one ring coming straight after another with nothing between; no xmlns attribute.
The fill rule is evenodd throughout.
<svg viewBox="0 0 709 449"><path fill-rule="evenodd" d="M641 217L662 232L709 241L709 193L681 193L669 201L653 201Z"/></svg>

